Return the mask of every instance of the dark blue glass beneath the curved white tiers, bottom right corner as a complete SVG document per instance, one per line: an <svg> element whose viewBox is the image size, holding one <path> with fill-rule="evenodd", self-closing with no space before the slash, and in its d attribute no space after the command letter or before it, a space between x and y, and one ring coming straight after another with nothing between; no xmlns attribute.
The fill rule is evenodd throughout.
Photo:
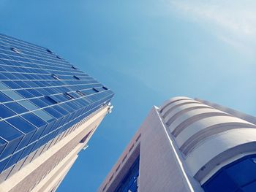
<svg viewBox="0 0 256 192"><path fill-rule="evenodd" d="M256 155L228 164L203 184L206 192L255 192Z"/></svg>

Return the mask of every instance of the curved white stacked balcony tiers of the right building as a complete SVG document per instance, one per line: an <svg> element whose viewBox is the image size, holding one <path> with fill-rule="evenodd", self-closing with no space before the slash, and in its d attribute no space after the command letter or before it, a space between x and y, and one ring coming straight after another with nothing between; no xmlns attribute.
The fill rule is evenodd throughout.
<svg viewBox="0 0 256 192"><path fill-rule="evenodd" d="M189 174L203 184L241 154L255 153L256 126L250 115L200 101L176 97L165 101L160 112Z"/></svg>

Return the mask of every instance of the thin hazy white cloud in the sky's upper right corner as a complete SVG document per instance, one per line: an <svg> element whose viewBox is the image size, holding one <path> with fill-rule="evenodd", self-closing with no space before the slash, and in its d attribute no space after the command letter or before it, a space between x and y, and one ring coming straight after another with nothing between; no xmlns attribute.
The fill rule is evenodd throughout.
<svg viewBox="0 0 256 192"><path fill-rule="evenodd" d="M256 48L256 1L169 0L176 14L203 23L224 42L245 51Z"/></svg>

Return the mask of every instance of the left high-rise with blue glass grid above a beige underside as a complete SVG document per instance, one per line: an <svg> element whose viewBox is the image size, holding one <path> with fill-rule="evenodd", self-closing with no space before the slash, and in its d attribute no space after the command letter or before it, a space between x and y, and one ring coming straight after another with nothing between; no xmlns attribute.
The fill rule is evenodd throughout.
<svg viewBox="0 0 256 192"><path fill-rule="evenodd" d="M0 191L56 191L112 97L51 50L0 34Z"/></svg>

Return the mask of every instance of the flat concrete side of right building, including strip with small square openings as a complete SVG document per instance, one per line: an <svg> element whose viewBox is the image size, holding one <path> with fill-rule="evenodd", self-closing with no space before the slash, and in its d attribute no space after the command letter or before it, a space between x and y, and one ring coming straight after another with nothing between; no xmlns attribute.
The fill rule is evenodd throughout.
<svg viewBox="0 0 256 192"><path fill-rule="evenodd" d="M181 153L176 151L178 148L175 145L167 134L157 107L153 107L99 186L98 192L113 192L138 155L140 155L138 178L140 192L186 192L194 189L197 192L202 191L199 183L187 175L188 169L181 159Z"/></svg>

